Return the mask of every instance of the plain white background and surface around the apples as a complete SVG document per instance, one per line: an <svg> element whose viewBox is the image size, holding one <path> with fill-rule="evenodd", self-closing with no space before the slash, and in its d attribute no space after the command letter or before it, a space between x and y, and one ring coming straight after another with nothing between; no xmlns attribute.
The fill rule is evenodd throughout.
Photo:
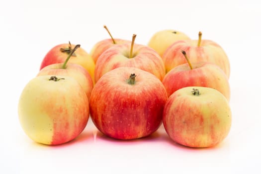
<svg viewBox="0 0 261 174"><path fill-rule="evenodd" d="M0 173L147 174L260 173L261 5L256 0L5 0L0 4ZM118 141L89 120L84 132L61 146L34 143L20 127L23 87L55 45L81 44L87 52L109 38L147 44L163 29L220 44L231 63L232 128L218 146L175 144L161 127L151 137ZM254 172L256 171L256 172Z"/></svg>

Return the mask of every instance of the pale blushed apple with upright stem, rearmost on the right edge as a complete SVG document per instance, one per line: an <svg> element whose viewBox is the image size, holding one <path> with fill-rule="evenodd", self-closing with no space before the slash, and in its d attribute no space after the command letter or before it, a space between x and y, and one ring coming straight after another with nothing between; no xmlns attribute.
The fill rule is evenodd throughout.
<svg viewBox="0 0 261 174"><path fill-rule="evenodd" d="M174 67L186 63L181 53L181 50L184 50L191 62L214 63L224 71L229 79L230 63L225 51L214 41L201 40L201 32L198 36L198 40L176 41L166 50L162 57L166 71L169 72Z"/></svg>

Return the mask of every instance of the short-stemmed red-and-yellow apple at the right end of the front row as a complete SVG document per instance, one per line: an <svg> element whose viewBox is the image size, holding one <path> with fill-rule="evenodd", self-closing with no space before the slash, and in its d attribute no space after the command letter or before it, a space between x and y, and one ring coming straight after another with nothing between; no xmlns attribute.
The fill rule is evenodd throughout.
<svg viewBox="0 0 261 174"><path fill-rule="evenodd" d="M227 99L210 87L183 87L167 100L163 124L169 137L188 147L213 147L231 128Z"/></svg>

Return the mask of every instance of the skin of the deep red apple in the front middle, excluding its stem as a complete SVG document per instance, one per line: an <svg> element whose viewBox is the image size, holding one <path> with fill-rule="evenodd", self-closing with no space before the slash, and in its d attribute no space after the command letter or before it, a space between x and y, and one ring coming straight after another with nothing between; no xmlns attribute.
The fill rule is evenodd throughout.
<svg viewBox="0 0 261 174"><path fill-rule="evenodd" d="M127 83L131 74L135 84ZM161 81L134 67L116 68L101 77L90 95L90 117L103 134L121 140L151 135L162 124L167 92Z"/></svg>

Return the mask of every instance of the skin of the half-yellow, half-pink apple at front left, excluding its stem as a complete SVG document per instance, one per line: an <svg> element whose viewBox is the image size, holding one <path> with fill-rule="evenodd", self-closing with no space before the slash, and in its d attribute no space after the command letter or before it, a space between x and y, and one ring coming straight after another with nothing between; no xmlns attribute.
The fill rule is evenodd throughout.
<svg viewBox="0 0 261 174"><path fill-rule="evenodd" d="M19 121L35 142L59 145L75 139L86 127L89 117L87 96L71 77L50 81L38 76L24 87L18 103Z"/></svg>

